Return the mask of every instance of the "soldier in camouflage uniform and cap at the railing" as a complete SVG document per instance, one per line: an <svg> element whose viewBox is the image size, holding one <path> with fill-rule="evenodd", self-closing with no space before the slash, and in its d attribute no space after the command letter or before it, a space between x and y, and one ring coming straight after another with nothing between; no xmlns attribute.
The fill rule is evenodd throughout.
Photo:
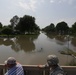
<svg viewBox="0 0 76 75"><path fill-rule="evenodd" d="M50 68L49 75L65 75L63 69L59 66L59 59L56 55L48 55L46 66Z"/></svg>

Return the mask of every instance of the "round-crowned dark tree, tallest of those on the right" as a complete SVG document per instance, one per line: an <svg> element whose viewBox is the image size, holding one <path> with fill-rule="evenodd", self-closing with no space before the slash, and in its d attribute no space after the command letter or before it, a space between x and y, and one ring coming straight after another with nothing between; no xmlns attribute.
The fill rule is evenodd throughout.
<svg viewBox="0 0 76 75"><path fill-rule="evenodd" d="M66 22L59 22L57 25L56 25L56 31L59 33L59 34L67 34L68 33L68 30L69 30L69 27L67 25Z"/></svg>

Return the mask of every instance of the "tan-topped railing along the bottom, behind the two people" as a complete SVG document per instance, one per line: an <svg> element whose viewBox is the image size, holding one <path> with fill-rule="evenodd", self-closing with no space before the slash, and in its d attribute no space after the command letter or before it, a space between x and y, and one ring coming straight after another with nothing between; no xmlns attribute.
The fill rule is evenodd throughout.
<svg viewBox="0 0 76 75"><path fill-rule="evenodd" d="M76 66L61 66L67 75L76 75ZM25 75L49 75L49 69L38 65L23 65ZM4 75L6 68L0 64L0 75Z"/></svg>

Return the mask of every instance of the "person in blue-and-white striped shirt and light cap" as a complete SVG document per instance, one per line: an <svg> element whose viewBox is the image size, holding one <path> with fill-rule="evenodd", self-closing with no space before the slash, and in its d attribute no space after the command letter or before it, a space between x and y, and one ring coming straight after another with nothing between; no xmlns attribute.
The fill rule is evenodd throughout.
<svg viewBox="0 0 76 75"><path fill-rule="evenodd" d="M24 75L22 65L16 62L14 57L9 57L5 61L5 66L8 68L8 70L4 75Z"/></svg>

